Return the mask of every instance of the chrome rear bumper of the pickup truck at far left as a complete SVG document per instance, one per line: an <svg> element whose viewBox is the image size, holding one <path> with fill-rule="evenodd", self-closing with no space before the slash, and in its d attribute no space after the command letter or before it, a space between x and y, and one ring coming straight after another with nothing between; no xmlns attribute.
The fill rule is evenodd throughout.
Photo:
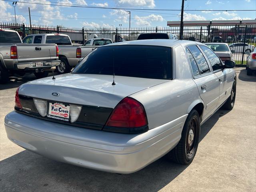
<svg viewBox="0 0 256 192"><path fill-rule="evenodd" d="M35 70L35 69L46 69L51 68L54 66L58 66L60 64L60 60L54 60L54 61L41 61L43 63L43 66L36 66L36 62L29 62L29 63L20 63L16 64L16 68L18 70Z"/></svg>

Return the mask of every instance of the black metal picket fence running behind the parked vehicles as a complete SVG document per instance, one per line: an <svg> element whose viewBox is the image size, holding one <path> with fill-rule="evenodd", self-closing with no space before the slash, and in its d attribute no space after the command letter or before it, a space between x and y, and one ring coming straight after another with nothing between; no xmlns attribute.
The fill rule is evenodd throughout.
<svg viewBox="0 0 256 192"><path fill-rule="evenodd" d="M179 38L180 27L145 28L71 28L64 26L42 26L0 23L0 28L16 30L22 38L28 34L60 33L70 36L73 45L83 45L90 38L110 38L113 42L136 40L141 33L164 32ZM256 25L235 26L184 26L183 39L202 43L225 42L234 52L236 64L246 64L247 54L256 46ZM216 50L218 51L218 50Z"/></svg>

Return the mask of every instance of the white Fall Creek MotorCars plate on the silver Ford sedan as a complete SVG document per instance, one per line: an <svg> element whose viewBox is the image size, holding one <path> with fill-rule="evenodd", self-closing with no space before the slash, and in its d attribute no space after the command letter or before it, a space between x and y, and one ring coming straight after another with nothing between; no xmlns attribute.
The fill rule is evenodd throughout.
<svg viewBox="0 0 256 192"><path fill-rule="evenodd" d="M47 117L56 120L69 121L70 106L62 103L49 102Z"/></svg>

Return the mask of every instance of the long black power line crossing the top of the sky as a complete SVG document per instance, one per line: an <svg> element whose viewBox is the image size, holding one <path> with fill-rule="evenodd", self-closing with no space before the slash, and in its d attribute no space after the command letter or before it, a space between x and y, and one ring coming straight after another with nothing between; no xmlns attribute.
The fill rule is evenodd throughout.
<svg viewBox="0 0 256 192"><path fill-rule="evenodd" d="M2 1L7 1L7 2L15 2L14 0L2 0ZM38 0L39 1L39 0ZM113 8L113 7L96 7L96 6L82 6L82 5L62 5L64 3L59 3L59 2L51 2L51 1L41 1L41 2L50 2L50 3L55 3L55 4L47 4L47 5L52 5L52 6L64 6L64 7L80 7L80 8L97 8L97 9L114 9L114 10L155 10L155 11L180 11L180 9L135 9L135 8ZM46 5L43 3L35 3L35 2L21 2L21 3L27 3L27 4L39 4L39 5ZM193 10L193 9L186 9L184 11L209 11L205 9L200 9L200 10ZM256 11L255 9L243 9L243 10L211 10L211 11Z"/></svg>

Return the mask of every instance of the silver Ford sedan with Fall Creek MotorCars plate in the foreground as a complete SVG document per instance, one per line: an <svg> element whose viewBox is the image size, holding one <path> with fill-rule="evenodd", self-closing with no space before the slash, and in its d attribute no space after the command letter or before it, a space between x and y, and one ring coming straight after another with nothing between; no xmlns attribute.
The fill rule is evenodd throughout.
<svg viewBox="0 0 256 192"><path fill-rule="evenodd" d="M6 132L27 150L106 172L136 172L165 154L189 164L200 125L234 106L233 67L199 42L102 46L70 74L21 85Z"/></svg>

